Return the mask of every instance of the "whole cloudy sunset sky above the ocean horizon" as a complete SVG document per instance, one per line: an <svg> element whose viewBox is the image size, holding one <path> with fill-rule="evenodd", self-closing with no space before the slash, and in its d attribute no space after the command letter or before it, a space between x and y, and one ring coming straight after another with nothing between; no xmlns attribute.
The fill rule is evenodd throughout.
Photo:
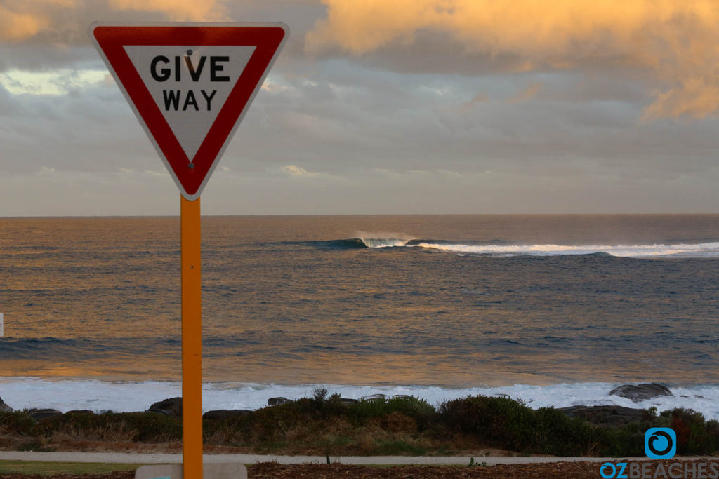
<svg viewBox="0 0 719 479"><path fill-rule="evenodd" d="M88 37L283 22L206 215L719 213L719 2L0 0L0 216L178 215Z"/></svg>

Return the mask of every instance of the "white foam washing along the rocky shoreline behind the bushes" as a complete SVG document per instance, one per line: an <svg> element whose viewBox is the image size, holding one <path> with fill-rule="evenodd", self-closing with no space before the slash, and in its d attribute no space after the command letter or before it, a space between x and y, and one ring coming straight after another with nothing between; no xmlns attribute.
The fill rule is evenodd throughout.
<svg viewBox="0 0 719 479"><path fill-rule="evenodd" d="M633 403L610 396L617 383L574 383L550 386L515 384L513 386L446 388L440 386L348 386L336 384L259 384L204 383L203 411L213 409L260 409L271 397L300 399L313 396L317 388L346 398L372 394L391 397L404 394L424 399L437 406L442 401L466 396L508 396L531 408L616 405L665 411L677 407L693 409L706 419L719 419L719 385L671 387L674 396L658 396ZM2 399L14 409L52 408L58 411L145 411L156 401L181 396L179 382L172 381L98 381L95 379L0 378ZM78 394L78 391L83 391Z"/></svg>

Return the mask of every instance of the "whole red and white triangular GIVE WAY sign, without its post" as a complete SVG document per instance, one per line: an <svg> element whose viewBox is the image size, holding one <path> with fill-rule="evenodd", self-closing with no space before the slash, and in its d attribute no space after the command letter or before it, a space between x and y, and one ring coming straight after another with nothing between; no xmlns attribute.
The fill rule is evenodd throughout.
<svg viewBox="0 0 719 479"><path fill-rule="evenodd" d="M196 200L289 29L273 24L91 24L107 68L188 200Z"/></svg>

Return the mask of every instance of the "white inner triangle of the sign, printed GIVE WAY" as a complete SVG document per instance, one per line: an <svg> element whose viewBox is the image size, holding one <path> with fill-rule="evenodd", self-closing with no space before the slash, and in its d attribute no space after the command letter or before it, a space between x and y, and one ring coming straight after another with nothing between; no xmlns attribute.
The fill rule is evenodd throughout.
<svg viewBox="0 0 719 479"><path fill-rule="evenodd" d="M192 162L255 47L127 45L124 49Z"/></svg>

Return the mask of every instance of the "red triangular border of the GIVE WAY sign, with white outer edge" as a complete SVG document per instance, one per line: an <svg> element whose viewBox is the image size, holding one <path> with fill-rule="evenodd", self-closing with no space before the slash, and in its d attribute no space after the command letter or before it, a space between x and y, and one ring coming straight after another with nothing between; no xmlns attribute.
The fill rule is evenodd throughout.
<svg viewBox="0 0 719 479"><path fill-rule="evenodd" d="M289 27L283 23L95 22L88 28L88 33L183 197L192 201L200 196L249 104L260 90L288 37ZM124 50L127 46L152 45L255 47L192 162Z"/></svg>

